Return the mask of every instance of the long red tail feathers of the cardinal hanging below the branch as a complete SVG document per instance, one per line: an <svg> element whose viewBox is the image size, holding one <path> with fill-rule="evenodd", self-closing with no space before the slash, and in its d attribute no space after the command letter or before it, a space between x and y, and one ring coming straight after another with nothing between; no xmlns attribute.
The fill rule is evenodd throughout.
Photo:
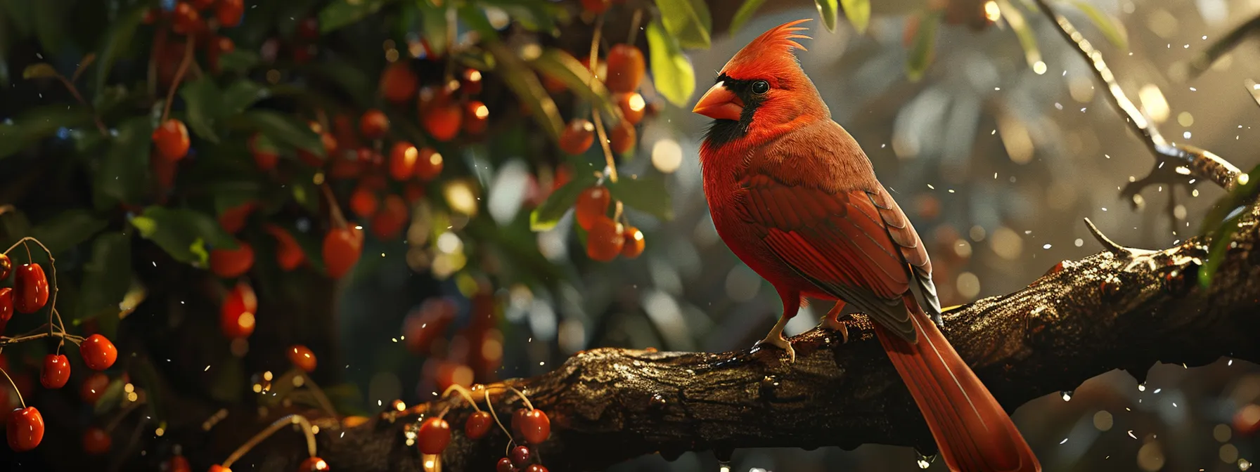
<svg viewBox="0 0 1260 472"><path fill-rule="evenodd" d="M1011 417L975 378L936 325L906 298L919 342L876 323L879 344L919 404L941 457L956 472L1040 472Z"/></svg>

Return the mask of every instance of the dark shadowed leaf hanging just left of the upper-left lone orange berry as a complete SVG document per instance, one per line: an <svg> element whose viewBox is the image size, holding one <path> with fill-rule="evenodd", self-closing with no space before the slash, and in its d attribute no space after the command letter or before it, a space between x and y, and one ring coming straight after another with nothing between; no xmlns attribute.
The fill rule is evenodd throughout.
<svg viewBox="0 0 1260 472"><path fill-rule="evenodd" d="M147 116L137 116L118 125L110 150L101 159L96 171L94 191L108 198L105 201L137 203L149 188L149 146L154 123Z"/></svg>

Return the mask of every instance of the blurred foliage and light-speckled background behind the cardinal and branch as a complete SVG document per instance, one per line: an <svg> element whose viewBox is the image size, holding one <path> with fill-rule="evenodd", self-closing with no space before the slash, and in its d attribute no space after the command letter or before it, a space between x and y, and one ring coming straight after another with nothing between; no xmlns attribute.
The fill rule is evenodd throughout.
<svg viewBox="0 0 1260 472"><path fill-rule="evenodd" d="M233 28L220 14L233 0L190 4L209 5L200 23L173 1L0 0L0 239L48 244L72 331L106 334L122 352L106 395L84 399L98 379L79 364L69 388L32 380L53 344L4 349L49 424L39 449L0 453L14 469L152 469L179 449L204 468L242 438L203 430L220 408L323 408L309 385L271 390L295 344L319 357L311 379L341 415L541 374L588 347L751 346L779 300L713 230L696 159L707 123L689 102L738 48L798 18L816 19L806 73L930 244L946 305L1097 252L1081 218L1121 244L1163 248L1197 234L1221 196L1193 183L1120 195L1152 157L1031 1L237 1ZM1196 62L1260 3L1051 4L1166 135L1260 164L1242 89L1260 52L1244 40ZM646 57L641 103L582 68L597 26L601 57L619 43ZM150 157L150 133L175 77L169 115L192 146L170 164ZM398 81L412 86L393 97ZM388 116L383 138L358 128L368 110ZM562 151L566 123L592 110L609 131L627 110L646 115L611 156L617 184L601 175L598 143ZM441 156L436 174L392 177L402 141ZM641 257L587 257L568 208L596 181L645 235ZM328 249L330 232L355 227L362 248ZM251 263L224 272L242 243ZM353 268L329 277L328 259L348 252ZM239 283L258 298L243 336L239 313L222 308ZM810 329L813 310L789 331ZM38 323L19 317L6 334ZM1255 365L1157 365L1144 380L1113 371L1014 419L1048 471L1234 471L1257 457ZM88 427L115 438L103 458L77 454ZM746 449L731 468L911 471L919 459L874 444ZM687 453L612 469L718 463Z"/></svg>

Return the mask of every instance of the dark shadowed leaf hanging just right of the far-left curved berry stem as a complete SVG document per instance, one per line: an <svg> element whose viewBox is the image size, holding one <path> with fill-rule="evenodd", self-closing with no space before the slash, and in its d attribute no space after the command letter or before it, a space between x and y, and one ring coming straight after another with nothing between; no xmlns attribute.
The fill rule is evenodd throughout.
<svg viewBox="0 0 1260 472"><path fill-rule="evenodd" d="M116 327L122 311L118 303L131 288L131 237L115 232L97 237L92 259L83 264L77 318L97 318L102 326Z"/></svg>

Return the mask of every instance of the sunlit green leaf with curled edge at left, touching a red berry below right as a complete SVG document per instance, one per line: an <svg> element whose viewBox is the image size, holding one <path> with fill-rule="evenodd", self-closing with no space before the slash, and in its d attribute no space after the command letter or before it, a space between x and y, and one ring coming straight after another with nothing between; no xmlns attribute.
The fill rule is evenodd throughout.
<svg viewBox="0 0 1260 472"><path fill-rule="evenodd" d="M205 244L220 249L237 248L236 239L219 227L219 222L197 210L149 206L142 215L131 218L131 225L140 230L141 237L184 263L204 266Z"/></svg>

